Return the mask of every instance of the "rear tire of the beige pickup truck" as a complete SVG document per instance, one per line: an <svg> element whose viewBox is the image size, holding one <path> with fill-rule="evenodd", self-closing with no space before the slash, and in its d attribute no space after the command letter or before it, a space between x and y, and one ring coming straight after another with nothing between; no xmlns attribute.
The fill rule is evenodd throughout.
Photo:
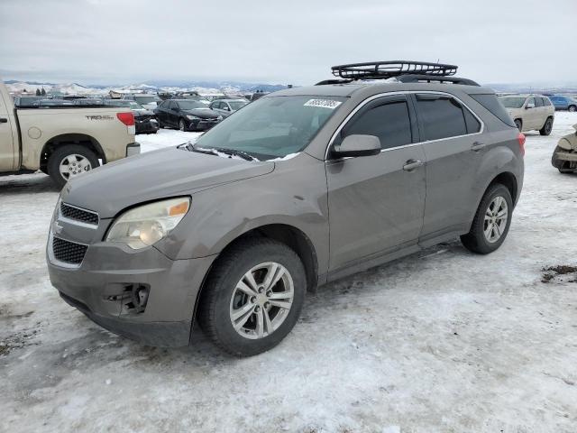
<svg viewBox="0 0 577 433"><path fill-rule="evenodd" d="M68 160L68 163L66 163ZM69 175L60 173L60 165L78 164L78 166L69 168ZM80 144L66 144L57 147L48 159L48 174L54 180L56 185L61 189L66 182L82 172L96 169L98 167L96 154L85 146Z"/></svg>

